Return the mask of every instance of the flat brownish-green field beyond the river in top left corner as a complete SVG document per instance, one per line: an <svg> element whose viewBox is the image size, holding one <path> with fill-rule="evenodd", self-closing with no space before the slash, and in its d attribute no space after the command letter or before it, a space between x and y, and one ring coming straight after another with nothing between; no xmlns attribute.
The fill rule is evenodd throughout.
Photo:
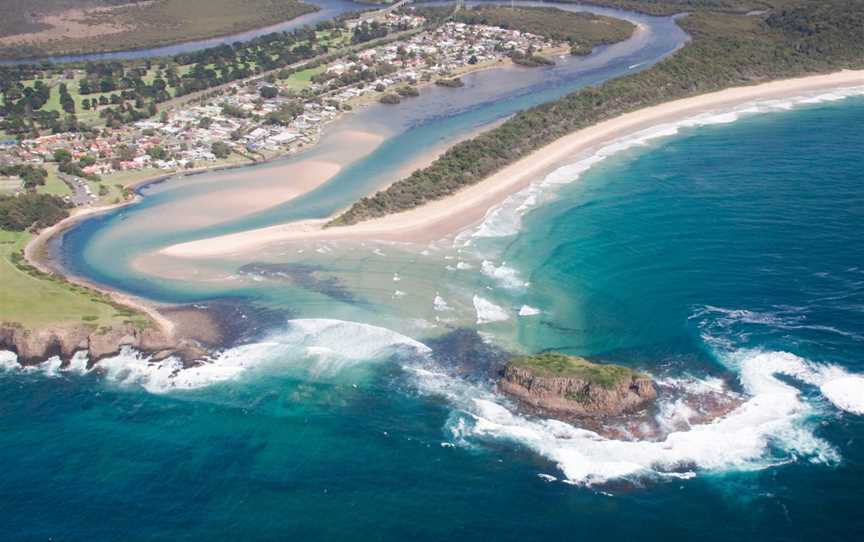
<svg viewBox="0 0 864 542"><path fill-rule="evenodd" d="M0 57L140 49L243 32L315 10L297 0L7 0Z"/></svg>

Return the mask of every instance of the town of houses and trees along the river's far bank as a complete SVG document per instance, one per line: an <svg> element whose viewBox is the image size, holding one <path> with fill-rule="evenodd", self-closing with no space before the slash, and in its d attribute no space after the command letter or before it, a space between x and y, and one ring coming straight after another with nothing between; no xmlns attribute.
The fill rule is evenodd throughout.
<svg viewBox="0 0 864 542"><path fill-rule="evenodd" d="M412 11L347 19L327 32L339 43L363 36L360 43L368 47L256 74L158 112L151 107L149 118L132 123L7 140L0 145L0 165L44 167L46 191L73 206L118 203L131 195L129 187L149 179L308 148L326 123L346 111L376 101L397 104L417 96L424 84L459 87L458 77L467 72L510 60L547 64L539 53L568 49L565 42L515 29L452 20L430 24ZM382 37L383 43L374 39ZM62 77L88 85L82 75L65 70ZM61 85L61 100L67 87ZM84 106L98 110L105 102L94 98ZM25 189L23 181L0 179L0 193Z"/></svg>

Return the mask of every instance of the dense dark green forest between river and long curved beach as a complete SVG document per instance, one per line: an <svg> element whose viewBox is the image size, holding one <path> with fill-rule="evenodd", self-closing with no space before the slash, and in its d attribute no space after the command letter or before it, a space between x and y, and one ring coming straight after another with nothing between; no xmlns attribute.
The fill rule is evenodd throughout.
<svg viewBox="0 0 864 542"><path fill-rule="evenodd" d="M330 225L354 224L451 195L559 137L645 106L731 86L864 67L864 2L770 1L758 13L750 11L753 3L732 0L638 3L652 12L689 10L679 24L693 40L646 71L520 112L455 145L429 167L355 203Z"/></svg>

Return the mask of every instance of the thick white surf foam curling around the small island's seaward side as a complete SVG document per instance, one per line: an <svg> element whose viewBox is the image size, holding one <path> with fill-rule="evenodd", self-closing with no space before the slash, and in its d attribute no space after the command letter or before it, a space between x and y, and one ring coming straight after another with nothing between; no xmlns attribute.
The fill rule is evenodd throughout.
<svg viewBox="0 0 864 542"><path fill-rule="evenodd" d="M783 352L740 351L726 362L739 374L744 402L723 418L669 433L661 441L616 440L557 420L515 414L490 390L434 370L413 369L418 389L444 396L456 406L447 429L453 442L472 446L485 439L517 442L555 462L571 483L591 485L626 478L688 478L701 471L753 470L806 458L833 464L839 454L813 432L818 405L776 375L803 382L833 382L832 401L850 411L861 406L864 379L838 376L837 368L814 365ZM669 384L669 382L666 382ZM725 389L719 379L684 383L693 393ZM824 384L823 384L824 386ZM831 390L831 385L828 386ZM665 410L665 414L663 411ZM690 414L680 404L662 404L661 416Z"/></svg>

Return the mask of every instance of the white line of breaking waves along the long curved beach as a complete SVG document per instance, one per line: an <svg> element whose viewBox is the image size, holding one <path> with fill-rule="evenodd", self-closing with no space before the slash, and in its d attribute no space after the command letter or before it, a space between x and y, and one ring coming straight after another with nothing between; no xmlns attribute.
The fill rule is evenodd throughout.
<svg viewBox="0 0 864 542"><path fill-rule="evenodd" d="M480 225L473 231L469 230L457 235L454 243L459 246L467 246L471 244L472 239L515 235L521 228L522 216L538 203L541 203L545 197L549 196L550 192L554 192L556 186L576 181L582 173L610 156L634 147L644 146L658 138L676 135L682 128L727 124L738 120L743 115L786 111L801 105L836 101L861 95L864 95L864 87L850 87L791 98L754 101L737 106L731 111L702 113L678 122L659 124L636 132L597 149L593 154L573 164L558 168L538 182L511 194L500 205L490 209Z"/></svg>

